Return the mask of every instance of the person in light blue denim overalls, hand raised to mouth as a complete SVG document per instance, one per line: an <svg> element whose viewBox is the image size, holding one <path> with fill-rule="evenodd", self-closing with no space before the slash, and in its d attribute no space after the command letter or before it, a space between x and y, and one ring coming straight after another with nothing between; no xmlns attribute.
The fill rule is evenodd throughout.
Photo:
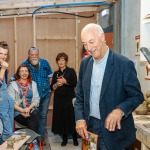
<svg viewBox="0 0 150 150"><path fill-rule="evenodd" d="M13 133L14 102L7 92L7 68L6 62L9 47L5 41L0 42L0 119L3 123L2 140L5 141ZM2 141L0 141L2 143Z"/></svg>

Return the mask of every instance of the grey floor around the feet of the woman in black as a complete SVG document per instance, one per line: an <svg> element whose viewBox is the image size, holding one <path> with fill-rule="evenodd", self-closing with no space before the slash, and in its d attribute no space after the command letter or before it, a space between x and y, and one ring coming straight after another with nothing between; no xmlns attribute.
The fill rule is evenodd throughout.
<svg viewBox="0 0 150 150"><path fill-rule="evenodd" d="M51 132L51 127L47 128L47 144L43 146L43 150L81 150L81 138L78 138L79 145L74 146L72 139L68 139L68 143L66 146L62 147L61 142L62 139L59 135L54 135ZM50 149L51 148L51 149Z"/></svg>

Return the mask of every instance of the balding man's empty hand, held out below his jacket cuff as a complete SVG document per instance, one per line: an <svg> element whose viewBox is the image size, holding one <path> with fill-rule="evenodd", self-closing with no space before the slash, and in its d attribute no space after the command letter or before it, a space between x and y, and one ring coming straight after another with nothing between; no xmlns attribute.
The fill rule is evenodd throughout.
<svg viewBox="0 0 150 150"><path fill-rule="evenodd" d="M114 109L105 120L105 127L109 131L115 131L115 129L121 129L121 119L122 119L123 111L119 108Z"/></svg>

